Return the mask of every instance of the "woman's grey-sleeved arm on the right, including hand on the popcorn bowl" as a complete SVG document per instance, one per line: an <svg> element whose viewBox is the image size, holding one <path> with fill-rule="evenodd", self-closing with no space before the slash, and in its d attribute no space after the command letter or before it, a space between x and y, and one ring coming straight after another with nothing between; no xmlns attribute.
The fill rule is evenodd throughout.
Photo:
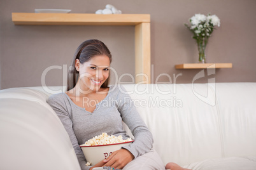
<svg viewBox="0 0 256 170"><path fill-rule="evenodd" d="M119 87L122 88L122 86ZM104 166L111 166L118 169L122 169L134 158L150 151L153 146L152 133L150 133L146 124L141 119L133 105L131 97L126 93L122 93L122 91L119 91L117 96L117 108L122 116L122 120L131 129L135 139L131 145L113 152L108 159L103 160L103 162L106 162Z"/></svg>

